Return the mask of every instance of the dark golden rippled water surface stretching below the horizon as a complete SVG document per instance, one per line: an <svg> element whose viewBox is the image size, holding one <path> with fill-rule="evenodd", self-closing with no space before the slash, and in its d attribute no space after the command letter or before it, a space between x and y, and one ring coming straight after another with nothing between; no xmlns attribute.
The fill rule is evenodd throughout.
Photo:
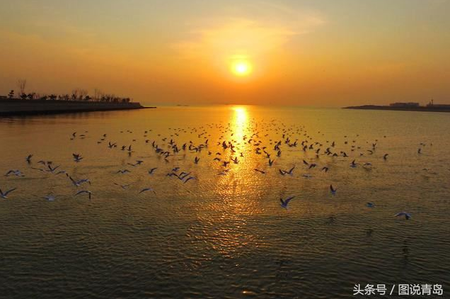
<svg viewBox="0 0 450 299"><path fill-rule="evenodd" d="M450 292L450 113L166 107L1 118L0 138L1 174L25 175L0 176L2 191L17 188L0 201L2 298L352 298L355 283ZM167 176L183 171L195 179ZM403 210L410 220L395 217Z"/></svg>

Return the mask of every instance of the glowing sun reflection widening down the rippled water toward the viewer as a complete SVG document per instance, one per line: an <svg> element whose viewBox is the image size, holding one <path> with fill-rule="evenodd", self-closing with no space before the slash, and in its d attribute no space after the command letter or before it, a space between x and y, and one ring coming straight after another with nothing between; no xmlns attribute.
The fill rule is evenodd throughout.
<svg viewBox="0 0 450 299"><path fill-rule="evenodd" d="M229 119L228 132L224 135L227 145L222 149L221 162L217 163L221 174L215 176L214 200L210 201L208 213L202 213L200 220L204 227L209 246L224 256L235 256L243 252L243 247L260 247L264 243L260 236L254 235L250 228L254 225L254 215L262 213L258 203L263 191L255 188L255 157L253 145L248 142L253 135L249 109L246 106L233 106ZM237 163L233 162L237 159ZM226 166L223 162L230 162ZM220 164L220 166L219 166Z"/></svg>

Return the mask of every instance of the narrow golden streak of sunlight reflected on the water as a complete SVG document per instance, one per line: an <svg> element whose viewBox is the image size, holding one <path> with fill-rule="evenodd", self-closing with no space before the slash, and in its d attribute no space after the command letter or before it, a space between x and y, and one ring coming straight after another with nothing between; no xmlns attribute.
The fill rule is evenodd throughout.
<svg viewBox="0 0 450 299"><path fill-rule="evenodd" d="M211 231L212 236L208 237L214 240L212 247L224 256L233 256L241 247L255 241L255 236L247 228L247 218L257 209L254 195L250 196L250 190L246 188L252 179L248 171L248 149L243 141L248 140L246 137L249 134L248 110L245 106L231 109L233 113L223 140L231 140L235 147L230 157L222 158L237 159L237 163L231 161L230 171L216 175L215 193L218 198L209 205L213 212L211 218L206 220L216 227Z"/></svg>

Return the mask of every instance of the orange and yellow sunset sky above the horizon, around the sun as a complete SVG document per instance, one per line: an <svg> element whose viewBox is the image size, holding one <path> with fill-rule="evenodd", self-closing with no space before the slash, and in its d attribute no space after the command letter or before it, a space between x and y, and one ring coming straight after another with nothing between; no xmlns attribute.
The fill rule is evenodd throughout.
<svg viewBox="0 0 450 299"><path fill-rule="evenodd" d="M148 104L450 103L449 0L10 2L0 94L25 78Z"/></svg>

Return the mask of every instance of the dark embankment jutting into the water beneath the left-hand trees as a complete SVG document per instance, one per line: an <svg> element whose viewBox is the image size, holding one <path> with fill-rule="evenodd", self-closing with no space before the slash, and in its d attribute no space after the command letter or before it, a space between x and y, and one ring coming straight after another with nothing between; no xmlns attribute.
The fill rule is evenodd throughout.
<svg viewBox="0 0 450 299"><path fill-rule="evenodd" d="M61 113L86 113L95 111L137 110L152 108L156 107L144 107L138 102L105 103L86 101L0 99L0 117Z"/></svg>

